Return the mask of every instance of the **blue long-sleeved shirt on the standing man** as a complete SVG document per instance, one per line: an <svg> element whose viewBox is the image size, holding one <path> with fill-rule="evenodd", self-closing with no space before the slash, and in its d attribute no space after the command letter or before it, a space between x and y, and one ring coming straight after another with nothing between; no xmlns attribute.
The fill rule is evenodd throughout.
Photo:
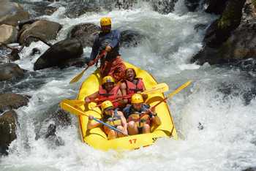
<svg viewBox="0 0 256 171"><path fill-rule="evenodd" d="M112 50L108 53L106 59L108 60L110 58L116 58L116 56L119 55L120 37L121 34L118 30L112 30L107 34L100 32L94 40L90 60L94 60L94 58L97 57L98 53L100 53L102 50L105 50L105 47L107 45L112 47Z"/></svg>

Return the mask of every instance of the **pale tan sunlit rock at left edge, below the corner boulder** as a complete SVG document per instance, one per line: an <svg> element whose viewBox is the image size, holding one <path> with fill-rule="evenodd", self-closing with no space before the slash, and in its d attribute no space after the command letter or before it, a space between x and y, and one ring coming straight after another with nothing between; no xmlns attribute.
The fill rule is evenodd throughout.
<svg viewBox="0 0 256 171"><path fill-rule="evenodd" d="M6 44L17 42L18 30L14 26L2 24L0 26L0 42Z"/></svg>

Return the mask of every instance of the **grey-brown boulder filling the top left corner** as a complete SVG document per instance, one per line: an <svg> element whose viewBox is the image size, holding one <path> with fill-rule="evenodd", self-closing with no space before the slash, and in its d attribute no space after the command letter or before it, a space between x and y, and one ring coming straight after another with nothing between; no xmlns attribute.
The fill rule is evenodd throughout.
<svg viewBox="0 0 256 171"><path fill-rule="evenodd" d="M29 19L29 12L23 10L20 4L9 0L0 1L0 25L17 26L19 20Z"/></svg>

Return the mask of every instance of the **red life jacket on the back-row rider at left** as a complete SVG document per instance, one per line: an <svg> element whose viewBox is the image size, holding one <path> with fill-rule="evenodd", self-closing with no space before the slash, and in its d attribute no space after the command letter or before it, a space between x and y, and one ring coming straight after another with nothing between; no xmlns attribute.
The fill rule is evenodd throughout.
<svg viewBox="0 0 256 171"><path fill-rule="evenodd" d="M102 86L99 86L99 99L109 98L109 99L116 99L117 92L119 90L119 85L116 85L110 92L107 92ZM118 107L118 102L113 102L114 108Z"/></svg>

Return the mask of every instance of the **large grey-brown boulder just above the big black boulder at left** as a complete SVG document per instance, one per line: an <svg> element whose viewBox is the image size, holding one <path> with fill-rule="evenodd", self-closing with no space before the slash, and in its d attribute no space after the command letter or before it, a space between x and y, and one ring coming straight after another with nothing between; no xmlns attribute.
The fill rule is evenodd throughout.
<svg viewBox="0 0 256 171"><path fill-rule="evenodd" d="M23 45L26 38L29 36L39 37L45 41L56 39L56 36L61 28L62 26L59 23L49 20L37 20L20 34L19 42L21 45ZM29 38L28 41L26 41L26 45L29 46L32 41L35 40Z"/></svg>

